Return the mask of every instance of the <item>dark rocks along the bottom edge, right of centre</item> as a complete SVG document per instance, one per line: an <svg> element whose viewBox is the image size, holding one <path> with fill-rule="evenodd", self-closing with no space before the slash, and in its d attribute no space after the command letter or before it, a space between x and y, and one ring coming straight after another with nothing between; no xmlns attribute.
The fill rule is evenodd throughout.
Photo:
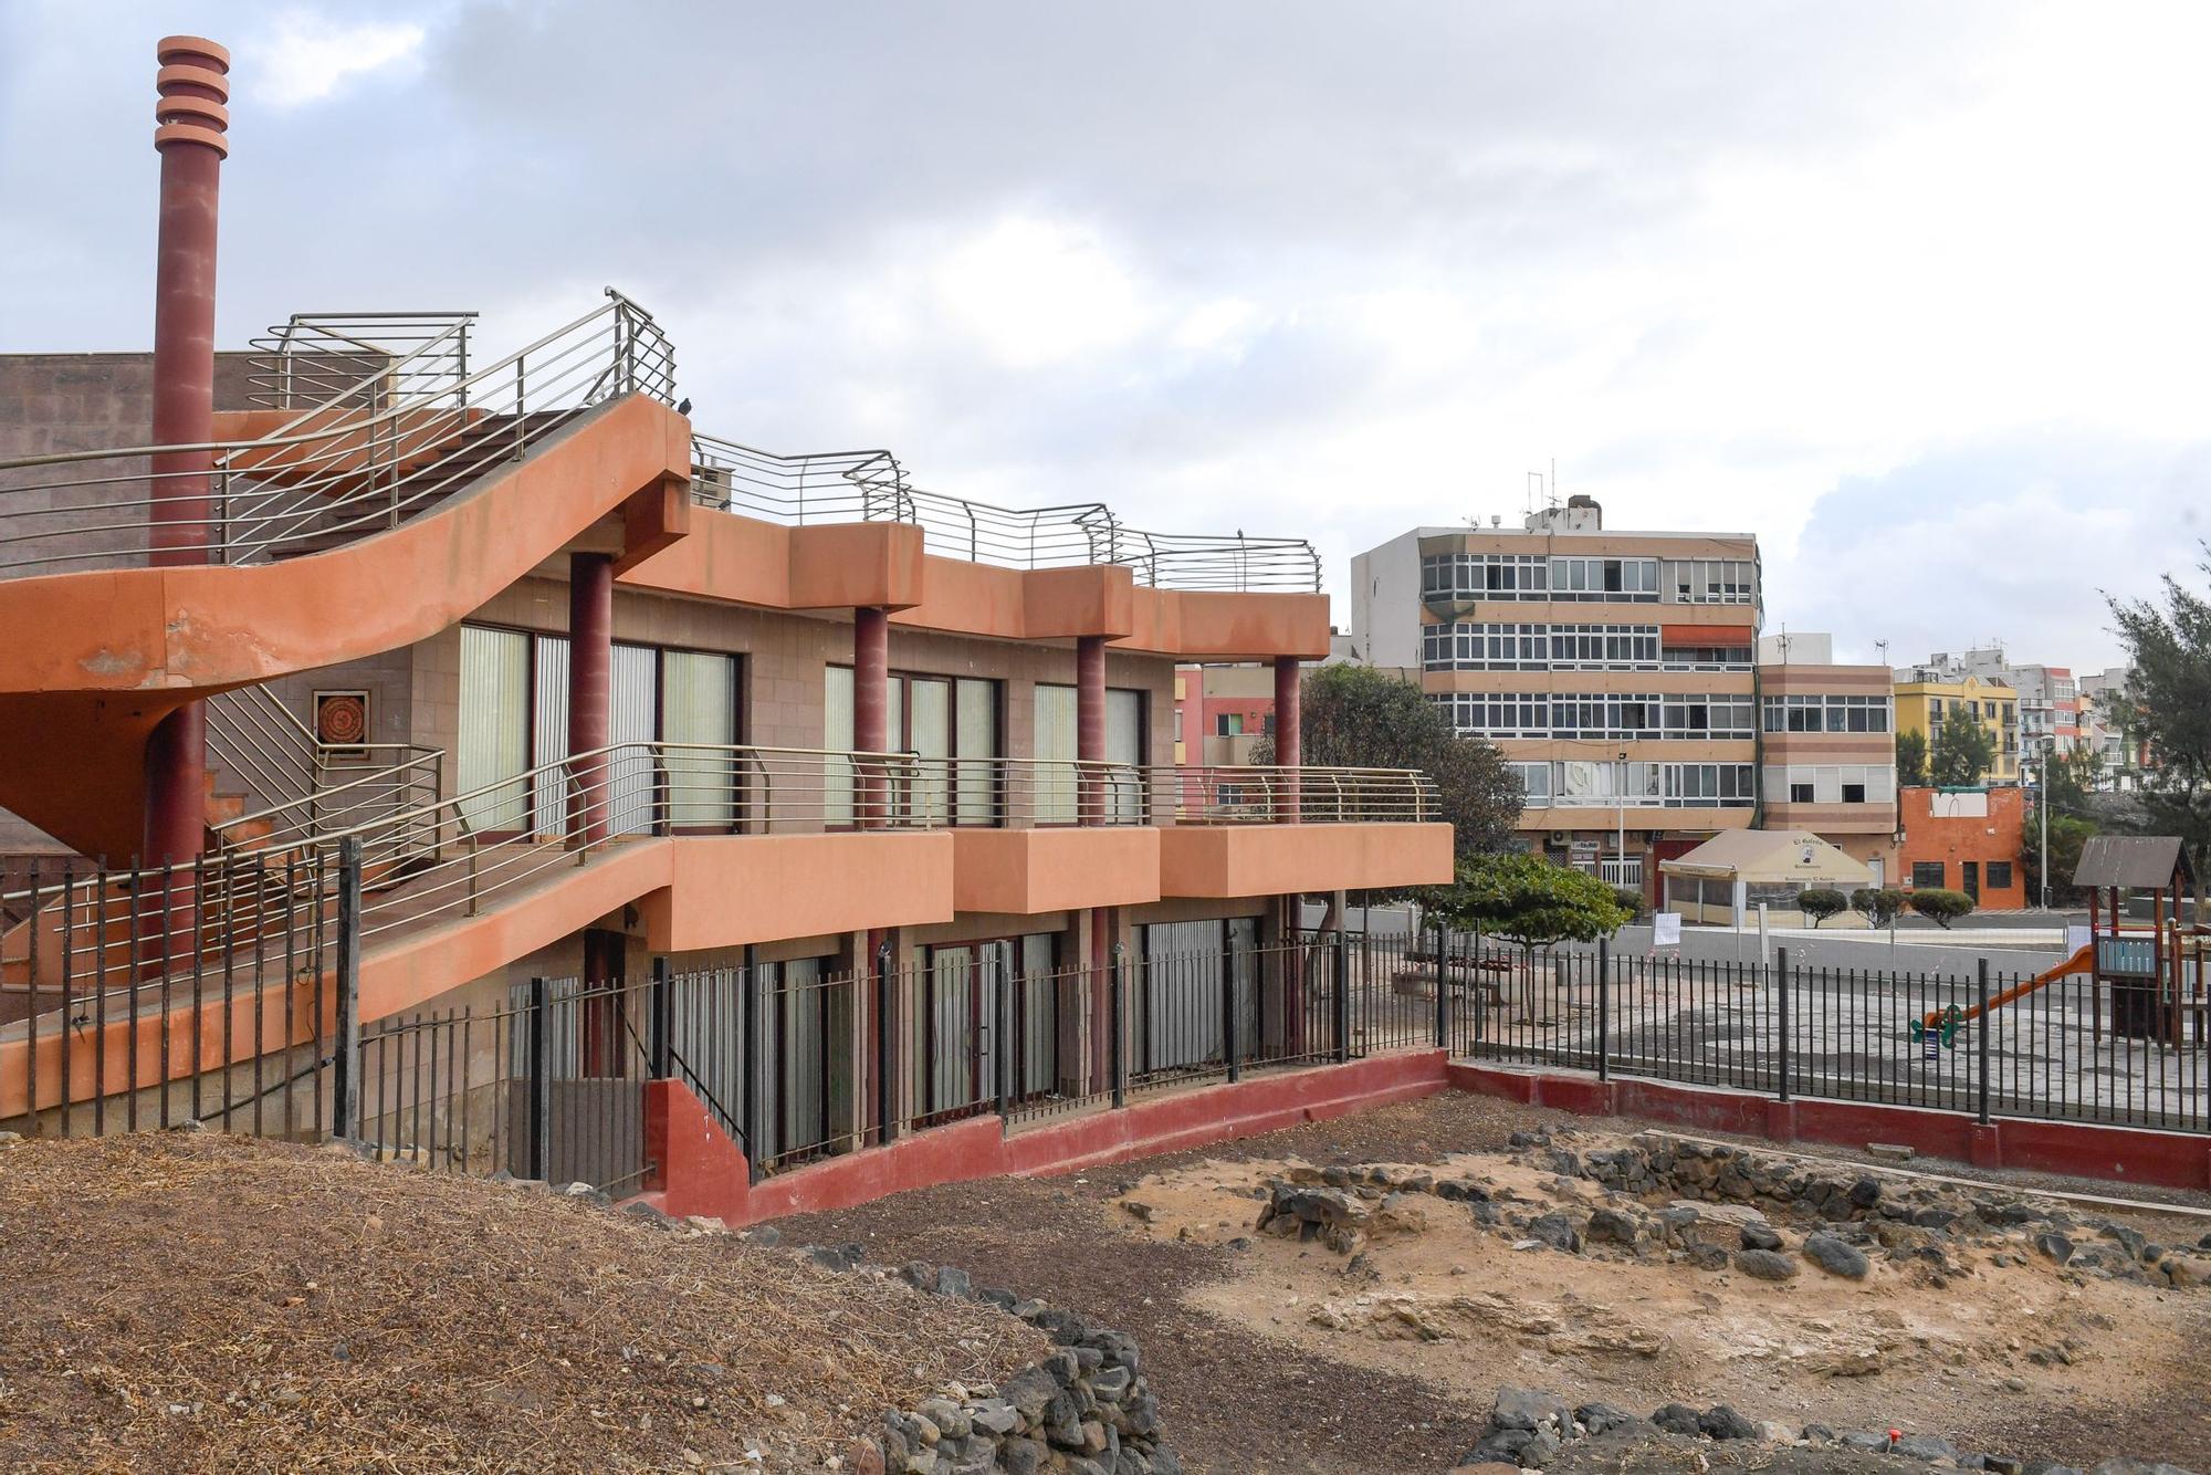
<svg viewBox="0 0 2211 1475"><path fill-rule="evenodd" d="M1481 1437L1459 1460L1459 1468L1492 1466L1539 1471L1548 1466L1561 1448L1574 1440L1607 1440L1614 1451L1676 1435L1687 1440L1756 1440L1758 1444L1798 1448L1851 1448L1864 1453L1899 1455L1939 1468L1994 1471L1997 1475L2087 1475L2069 1466L2023 1464L2010 1455L1988 1455L1961 1451L1941 1435L1844 1429L1824 1424L1778 1424L1773 1420L1751 1422L1727 1404L1691 1409L1689 1404L1665 1404L1649 1418L1614 1409L1603 1402L1572 1404L1537 1389L1497 1389L1497 1404ZM1641 1466L1636 1466L1641 1468ZM2176 1464L2142 1464L2138 1460L2105 1460L2094 1475L2191 1475Z"/></svg>

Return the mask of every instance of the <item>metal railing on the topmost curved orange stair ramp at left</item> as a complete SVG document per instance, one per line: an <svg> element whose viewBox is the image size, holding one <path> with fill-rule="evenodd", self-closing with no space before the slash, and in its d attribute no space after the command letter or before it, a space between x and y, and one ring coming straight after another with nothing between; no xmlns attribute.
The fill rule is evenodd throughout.
<svg viewBox="0 0 2211 1475"><path fill-rule="evenodd" d="M674 400L674 349L612 287L464 378L427 374L411 398L356 402L389 374L371 369L261 440L0 462L0 577L323 551L398 526L597 405Z"/></svg>

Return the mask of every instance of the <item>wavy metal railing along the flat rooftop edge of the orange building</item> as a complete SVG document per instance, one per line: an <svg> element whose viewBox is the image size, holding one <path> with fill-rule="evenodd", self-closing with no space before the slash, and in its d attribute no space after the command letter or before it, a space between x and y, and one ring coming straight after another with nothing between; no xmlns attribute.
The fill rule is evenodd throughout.
<svg viewBox="0 0 2211 1475"><path fill-rule="evenodd" d="M1302 537L1150 533L1128 526L1103 502L991 506L911 487L889 451L778 456L692 436L692 498L789 526L911 522L926 533L931 551L977 564L1123 564L1154 588L1320 588L1320 555Z"/></svg>

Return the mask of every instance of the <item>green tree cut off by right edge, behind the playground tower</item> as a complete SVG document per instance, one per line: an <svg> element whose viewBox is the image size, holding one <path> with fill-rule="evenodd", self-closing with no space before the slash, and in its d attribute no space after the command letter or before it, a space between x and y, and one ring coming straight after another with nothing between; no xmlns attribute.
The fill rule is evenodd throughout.
<svg viewBox="0 0 2211 1475"><path fill-rule="evenodd" d="M2204 551L2211 555L2211 544ZM2211 575L2211 557L2196 568ZM2109 606L2134 663L2127 703L2149 741L2142 829L2180 836L2202 918L2211 869L2211 599L2165 575L2162 608L2149 599L2109 599Z"/></svg>

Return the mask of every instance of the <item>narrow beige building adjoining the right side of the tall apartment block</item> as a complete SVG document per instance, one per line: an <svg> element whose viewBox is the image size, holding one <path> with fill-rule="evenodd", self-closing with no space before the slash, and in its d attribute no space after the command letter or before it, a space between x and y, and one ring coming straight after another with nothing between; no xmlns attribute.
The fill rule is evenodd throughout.
<svg viewBox="0 0 2211 1475"><path fill-rule="evenodd" d="M1897 878L1897 739L1886 666L1837 666L1828 635L1758 641L1760 825L1806 829Z"/></svg>

